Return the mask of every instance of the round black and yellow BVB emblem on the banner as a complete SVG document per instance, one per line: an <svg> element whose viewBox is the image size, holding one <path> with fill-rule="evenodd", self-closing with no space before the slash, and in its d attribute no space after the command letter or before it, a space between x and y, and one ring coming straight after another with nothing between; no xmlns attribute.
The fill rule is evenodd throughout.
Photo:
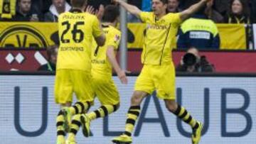
<svg viewBox="0 0 256 144"><path fill-rule="evenodd" d="M36 28L26 25L16 25L6 28L5 31L0 33L0 47L47 48L48 42Z"/></svg>

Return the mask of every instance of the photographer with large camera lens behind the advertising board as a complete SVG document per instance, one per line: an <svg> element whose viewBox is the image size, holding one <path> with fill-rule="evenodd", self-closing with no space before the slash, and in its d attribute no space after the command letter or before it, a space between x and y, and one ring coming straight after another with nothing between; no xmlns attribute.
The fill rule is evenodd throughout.
<svg viewBox="0 0 256 144"><path fill-rule="evenodd" d="M189 48L176 67L176 72L214 72L215 68L206 56L200 56L196 48Z"/></svg>

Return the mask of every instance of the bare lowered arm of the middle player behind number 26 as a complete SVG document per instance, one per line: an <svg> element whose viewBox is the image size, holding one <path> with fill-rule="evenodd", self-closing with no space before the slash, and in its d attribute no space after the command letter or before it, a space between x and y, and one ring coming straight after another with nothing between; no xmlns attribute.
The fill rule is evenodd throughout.
<svg viewBox="0 0 256 144"><path fill-rule="evenodd" d="M127 80L125 71L119 67L117 63L117 59L114 55L114 47L111 45L107 47L107 58L110 60L110 63L114 68L114 71L117 72L117 76L119 77L122 84L127 84L128 80Z"/></svg>

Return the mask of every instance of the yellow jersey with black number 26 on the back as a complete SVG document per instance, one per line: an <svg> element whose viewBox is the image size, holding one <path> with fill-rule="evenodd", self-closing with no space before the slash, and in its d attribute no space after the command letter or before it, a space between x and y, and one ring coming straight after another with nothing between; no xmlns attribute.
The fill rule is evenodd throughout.
<svg viewBox="0 0 256 144"><path fill-rule="evenodd" d="M97 17L76 9L62 13L58 18L58 33L57 70L91 72L92 39L102 35Z"/></svg>

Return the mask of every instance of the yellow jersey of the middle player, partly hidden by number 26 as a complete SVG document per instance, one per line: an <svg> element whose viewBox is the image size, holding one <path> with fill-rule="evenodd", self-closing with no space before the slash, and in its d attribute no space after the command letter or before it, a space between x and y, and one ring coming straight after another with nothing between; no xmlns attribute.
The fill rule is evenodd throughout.
<svg viewBox="0 0 256 144"><path fill-rule="evenodd" d="M107 58L107 47L113 46L114 50L118 49L121 32L113 26L102 26L106 35L105 45L97 46L95 41L92 44L92 74L100 73L112 76L112 65Z"/></svg>

